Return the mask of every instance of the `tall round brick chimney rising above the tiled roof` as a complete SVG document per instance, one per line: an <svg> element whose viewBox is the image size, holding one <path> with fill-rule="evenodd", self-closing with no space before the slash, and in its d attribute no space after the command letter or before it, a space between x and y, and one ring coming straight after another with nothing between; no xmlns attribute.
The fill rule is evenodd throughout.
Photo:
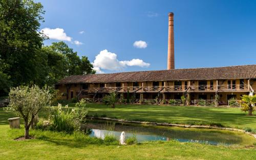
<svg viewBox="0 0 256 160"><path fill-rule="evenodd" d="M169 27L168 27L168 58L167 58L167 70L175 68L174 65L174 13L170 12Z"/></svg>

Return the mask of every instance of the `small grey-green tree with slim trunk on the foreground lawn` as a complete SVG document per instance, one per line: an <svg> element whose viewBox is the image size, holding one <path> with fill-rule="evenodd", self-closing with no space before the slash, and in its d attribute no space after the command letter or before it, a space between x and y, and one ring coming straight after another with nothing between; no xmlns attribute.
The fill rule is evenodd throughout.
<svg viewBox="0 0 256 160"><path fill-rule="evenodd" d="M29 139L29 128L37 113L50 104L52 97L53 95L48 89L40 89L37 85L11 88L10 104L5 111L13 112L24 119L25 139Z"/></svg>

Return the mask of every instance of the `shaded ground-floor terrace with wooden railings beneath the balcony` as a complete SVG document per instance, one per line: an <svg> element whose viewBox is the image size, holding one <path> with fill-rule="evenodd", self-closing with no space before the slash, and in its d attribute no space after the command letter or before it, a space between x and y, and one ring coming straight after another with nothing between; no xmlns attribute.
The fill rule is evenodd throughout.
<svg viewBox="0 0 256 160"><path fill-rule="evenodd" d="M241 107L242 95L249 92L224 93L117 93L118 103L132 104L168 104L198 106L238 106ZM87 102L102 102L109 93L84 94L80 98ZM217 95L217 98L216 98Z"/></svg>

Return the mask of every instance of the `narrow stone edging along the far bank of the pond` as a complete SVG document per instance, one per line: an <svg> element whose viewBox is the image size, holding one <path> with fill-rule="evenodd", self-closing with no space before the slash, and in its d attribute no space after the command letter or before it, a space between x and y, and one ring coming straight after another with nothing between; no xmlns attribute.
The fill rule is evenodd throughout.
<svg viewBox="0 0 256 160"><path fill-rule="evenodd" d="M214 126L203 126L203 125L186 125L186 124L173 124L173 123L158 123L158 122L146 122L146 121L130 121L130 120L123 120L123 119L114 119L114 118L106 118L106 117L91 117L91 119L95 120L109 120L109 121L117 121L123 123L137 123L137 124L153 124L158 126L174 126L174 127L185 127L185 128L205 128L205 129L222 129L222 130L231 130L231 131L240 131L246 134L254 136L256 139L256 134L251 132L246 132L243 129L236 129L236 128L224 128L224 127L214 127Z"/></svg>

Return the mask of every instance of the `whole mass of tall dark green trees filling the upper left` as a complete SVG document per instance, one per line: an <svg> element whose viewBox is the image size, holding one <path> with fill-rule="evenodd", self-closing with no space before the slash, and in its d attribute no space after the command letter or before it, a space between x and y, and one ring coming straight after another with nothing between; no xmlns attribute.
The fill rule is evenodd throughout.
<svg viewBox="0 0 256 160"><path fill-rule="evenodd" d="M70 75L95 74L88 57L81 58L64 42L42 46L38 32L45 13L33 0L0 1L0 96L11 86L52 86Z"/></svg>

